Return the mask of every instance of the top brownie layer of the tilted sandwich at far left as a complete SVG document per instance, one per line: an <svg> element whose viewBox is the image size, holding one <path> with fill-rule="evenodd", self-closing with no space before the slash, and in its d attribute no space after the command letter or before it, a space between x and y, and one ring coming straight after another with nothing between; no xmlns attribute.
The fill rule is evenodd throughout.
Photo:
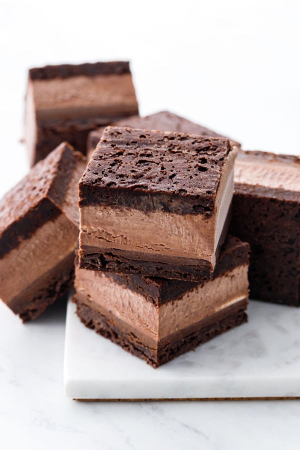
<svg viewBox="0 0 300 450"><path fill-rule="evenodd" d="M62 143L0 200L0 257L49 219L69 210L66 194L81 153ZM79 225L79 217L70 218Z"/></svg>

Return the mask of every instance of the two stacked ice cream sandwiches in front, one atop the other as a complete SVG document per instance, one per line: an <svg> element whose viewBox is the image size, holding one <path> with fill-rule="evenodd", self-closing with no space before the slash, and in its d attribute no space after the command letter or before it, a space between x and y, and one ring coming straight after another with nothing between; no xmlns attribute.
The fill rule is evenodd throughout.
<svg viewBox="0 0 300 450"><path fill-rule="evenodd" d="M236 153L107 127L80 179L77 314L154 367L246 320L248 244L227 235Z"/></svg>

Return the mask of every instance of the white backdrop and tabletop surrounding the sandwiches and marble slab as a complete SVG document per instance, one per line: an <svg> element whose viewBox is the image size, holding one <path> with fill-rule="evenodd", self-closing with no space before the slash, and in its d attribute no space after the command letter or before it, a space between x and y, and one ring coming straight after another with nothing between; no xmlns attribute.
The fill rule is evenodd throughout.
<svg viewBox="0 0 300 450"><path fill-rule="evenodd" d="M47 63L129 59L141 114L169 109L244 148L300 153L299 21L291 0L0 1L0 194L28 169L27 69ZM298 401L67 400L63 320L56 307L23 326L0 306L3 448L297 447Z"/></svg>

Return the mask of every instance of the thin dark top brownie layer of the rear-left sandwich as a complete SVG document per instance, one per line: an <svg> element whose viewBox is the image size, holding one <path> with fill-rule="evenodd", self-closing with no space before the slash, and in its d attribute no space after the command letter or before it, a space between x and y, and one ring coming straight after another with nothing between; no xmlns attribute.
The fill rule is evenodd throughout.
<svg viewBox="0 0 300 450"><path fill-rule="evenodd" d="M60 64L45 65L44 67L34 67L29 69L29 78L52 79L68 78L69 76L94 76L130 73L128 61L109 61L84 64Z"/></svg>

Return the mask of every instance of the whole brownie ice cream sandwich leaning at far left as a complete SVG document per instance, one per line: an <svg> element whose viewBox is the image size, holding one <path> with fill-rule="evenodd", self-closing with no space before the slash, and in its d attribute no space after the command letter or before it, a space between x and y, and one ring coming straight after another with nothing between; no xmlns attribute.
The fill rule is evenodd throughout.
<svg viewBox="0 0 300 450"><path fill-rule="evenodd" d="M0 298L24 322L72 284L85 164L62 143L0 201Z"/></svg>

